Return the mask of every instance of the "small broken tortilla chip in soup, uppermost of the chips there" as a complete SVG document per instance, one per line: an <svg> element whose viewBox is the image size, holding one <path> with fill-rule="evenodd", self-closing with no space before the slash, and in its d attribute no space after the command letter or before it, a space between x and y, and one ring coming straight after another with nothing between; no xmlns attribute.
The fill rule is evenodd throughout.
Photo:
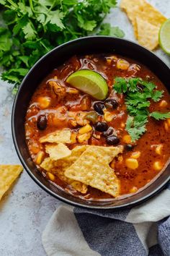
<svg viewBox="0 0 170 256"><path fill-rule="evenodd" d="M71 142L71 131L69 129L61 129L52 132L48 135L40 137L40 143L70 143Z"/></svg>

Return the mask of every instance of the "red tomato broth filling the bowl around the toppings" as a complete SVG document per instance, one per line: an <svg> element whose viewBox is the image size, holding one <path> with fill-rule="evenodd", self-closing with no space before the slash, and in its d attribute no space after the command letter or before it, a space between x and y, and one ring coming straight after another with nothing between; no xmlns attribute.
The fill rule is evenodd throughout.
<svg viewBox="0 0 170 256"><path fill-rule="evenodd" d="M127 69L117 68L117 61L120 59L128 61ZM125 68L125 67L124 67ZM37 168L42 172L47 179L50 180L50 176L46 171L40 168L40 164L37 164L37 154L41 151L42 158L48 157L45 153L45 147L39 142L40 137L47 135L50 132L54 132L56 129L69 128L72 131L77 132L81 127L79 124L75 124L75 119L70 113L77 114L79 112L94 111L94 103L96 100L90 95L86 95L79 91L76 94L66 93L66 95L60 95L60 98L56 97L53 90L49 89L49 82L53 84L56 82L63 88L71 88L66 83L66 78L71 73L79 69L91 69L99 74L102 74L107 81L109 87L109 93L107 98L115 99L118 103L118 107L115 110L109 111L110 114L114 114L114 119L109 121L109 127L113 127L117 136L120 138L118 145L127 145L129 137L128 132L125 130L125 123L128 117L128 113L125 105L125 96L115 93L112 89L113 80L115 77L141 77L143 80L151 80L156 86L157 90L164 90L164 97L161 101L154 103L151 101L149 111L170 111L170 98L169 93L165 86L162 84L158 77L153 74L148 68L139 64L132 59L127 59L121 56L109 56L109 55L89 55L89 56L73 56L65 64L58 69L54 69L48 77L43 80L35 90L34 95L30 101L30 106L27 109L27 115L25 120L25 136L27 146L30 151L32 160L35 161ZM45 97L45 103L42 102L42 98ZM50 103L49 103L50 102ZM46 106L45 106L46 104ZM41 130L37 128L38 116L46 116L46 128ZM98 121L103 121L104 116L99 115ZM76 126L75 126L76 125ZM144 187L148 182L158 175L161 170L169 161L170 155L170 119L163 121L156 121L151 117L146 124L147 132L135 142L132 150L124 150L122 155L116 158L114 166L111 163L111 167L114 168L115 174L120 179L121 191L120 195L137 192L138 189ZM72 149L76 145L102 145L108 146L106 138L101 135L101 132L94 132L89 140L79 143L77 140L75 143L68 145L68 148ZM134 156L138 159L138 168L128 168L126 165L126 159ZM156 162L161 164L161 169L156 169ZM53 184L61 189L65 189L75 196L83 197L86 200L102 200L106 198L112 198L104 192L88 188L86 194L76 192L71 185L66 184L57 175L51 179Z"/></svg>

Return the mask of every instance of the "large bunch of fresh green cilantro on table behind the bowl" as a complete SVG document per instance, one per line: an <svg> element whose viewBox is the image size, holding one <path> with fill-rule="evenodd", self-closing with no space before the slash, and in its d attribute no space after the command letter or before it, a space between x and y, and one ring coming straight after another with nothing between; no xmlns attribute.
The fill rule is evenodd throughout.
<svg viewBox="0 0 170 256"><path fill-rule="evenodd" d="M117 0L0 0L0 67L3 80L19 85L40 57L68 40L94 33ZM104 25L101 35L123 37Z"/></svg>

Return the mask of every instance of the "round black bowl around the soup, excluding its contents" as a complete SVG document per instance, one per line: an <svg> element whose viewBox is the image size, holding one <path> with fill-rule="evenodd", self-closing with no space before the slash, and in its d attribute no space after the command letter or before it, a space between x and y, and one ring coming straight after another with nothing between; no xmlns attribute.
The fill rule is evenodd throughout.
<svg viewBox="0 0 170 256"><path fill-rule="evenodd" d="M101 210L127 208L132 205L137 205L139 202L143 202L151 196L156 195L156 193L158 193L169 181L170 165L166 166L165 170L162 171L161 174L151 182L151 184L148 184L148 186L141 189L135 195L121 197L120 199L113 199L111 201L106 200L104 202L87 201L78 197L73 197L73 195L69 195L62 189L59 189L48 182L48 180L45 179L39 171L37 171L35 164L30 158L25 142L25 114L37 85L39 85L42 79L44 79L54 68L63 64L64 61L74 54L84 55L94 53L115 53L139 61L151 69L151 71L164 83L166 88L168 88L168 90L170 89L169 67L166 66L164 61L159 59L146 48L128 40L107 36L93 36L72 40L71 42L64 43L63 45L56 47L53 51L50 51L48 54L43 56L39 61L37 61L34 67L32 67L27 76L24 77L22 85L20 86L14 100L14 106L12 109L12 136L19 159L27 173L30 174L32 179L34 179L34 181L50 195L53 195L55 198L71 205L85 208L98 208Z"/></svg>

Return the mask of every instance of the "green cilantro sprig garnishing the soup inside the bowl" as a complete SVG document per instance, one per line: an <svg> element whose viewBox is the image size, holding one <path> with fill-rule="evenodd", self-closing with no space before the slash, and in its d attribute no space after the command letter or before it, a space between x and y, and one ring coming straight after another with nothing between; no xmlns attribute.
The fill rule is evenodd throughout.
<svg viewBox="0 0 170 256"><path fill-rule="evenodd" d="M132 142L138 140L146 132L148 116L156 120L170 118L170 112L154 111L149 113L148 111L151 100L160 101L164 93L164 90L156 90L156 85L153 82L144 81L140 77L116 77L113 88L116 93L125 94L125 104L129 114L125 129Z"/></svg>

